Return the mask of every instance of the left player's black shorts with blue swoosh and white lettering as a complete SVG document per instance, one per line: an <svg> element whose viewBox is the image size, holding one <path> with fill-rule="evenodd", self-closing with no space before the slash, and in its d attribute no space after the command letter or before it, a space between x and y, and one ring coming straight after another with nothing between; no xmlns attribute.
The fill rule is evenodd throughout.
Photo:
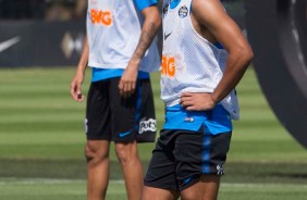
<svg viewBox="0 0 307 200"><path fill-rule="evenodd" d="M149 79L138 79L130 98L119 91L118 78L93 82L88 91L85 130L88 140L152 142L156 116Z"/></svg>

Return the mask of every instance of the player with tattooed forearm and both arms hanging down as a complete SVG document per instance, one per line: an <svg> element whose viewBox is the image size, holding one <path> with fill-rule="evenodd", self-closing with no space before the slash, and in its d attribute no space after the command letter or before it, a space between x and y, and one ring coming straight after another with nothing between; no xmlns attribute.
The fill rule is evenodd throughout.
<svg viewBox="0 0 307 200"><path fill-rule="evenodd" d="M157 129L149 73L160 66L152 42L160 24L157 0L88 0L87 37L71 83L71 96L82 102L85 70L91 67L85 118L88 200L106 198L111 141L127 198L139 199L137 142L155 141Z"/></svg>

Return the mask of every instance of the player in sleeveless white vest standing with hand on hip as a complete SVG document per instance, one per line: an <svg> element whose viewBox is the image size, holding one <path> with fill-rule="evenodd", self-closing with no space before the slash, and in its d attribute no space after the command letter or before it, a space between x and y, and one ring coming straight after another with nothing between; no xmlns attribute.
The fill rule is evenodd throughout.
<svg viewBox="0 0 307 200"><path fill-rule="evenodd" d="M165 122L142 199L213 200L253 51L219 0L164 0L162 22Z"/></svg>

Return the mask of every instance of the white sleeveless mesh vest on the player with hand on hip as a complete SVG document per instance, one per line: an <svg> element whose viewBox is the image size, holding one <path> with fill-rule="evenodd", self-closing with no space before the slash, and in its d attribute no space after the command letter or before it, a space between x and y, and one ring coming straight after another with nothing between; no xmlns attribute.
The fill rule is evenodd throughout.
<svg viewBox="0 0 307 200"><path fill-rule="evenodd" d="M181 93L213 92L223 76L228 52L219 49L193 27L192 0L164 0L161 99L167 107L179 104ZM238 120L235 91L220 102L232 120Z"/></svg>

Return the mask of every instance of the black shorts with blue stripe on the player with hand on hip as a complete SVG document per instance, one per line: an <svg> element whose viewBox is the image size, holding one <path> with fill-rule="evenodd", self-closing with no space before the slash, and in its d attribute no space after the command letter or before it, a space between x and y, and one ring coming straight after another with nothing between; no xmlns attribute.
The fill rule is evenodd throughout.
<svg viewBox="0 0 307 200"><path fill-rule="evenodd" d="M182 191L204 174L223 175L231 133L162 129L152 151L145 185Z"/></svg>

